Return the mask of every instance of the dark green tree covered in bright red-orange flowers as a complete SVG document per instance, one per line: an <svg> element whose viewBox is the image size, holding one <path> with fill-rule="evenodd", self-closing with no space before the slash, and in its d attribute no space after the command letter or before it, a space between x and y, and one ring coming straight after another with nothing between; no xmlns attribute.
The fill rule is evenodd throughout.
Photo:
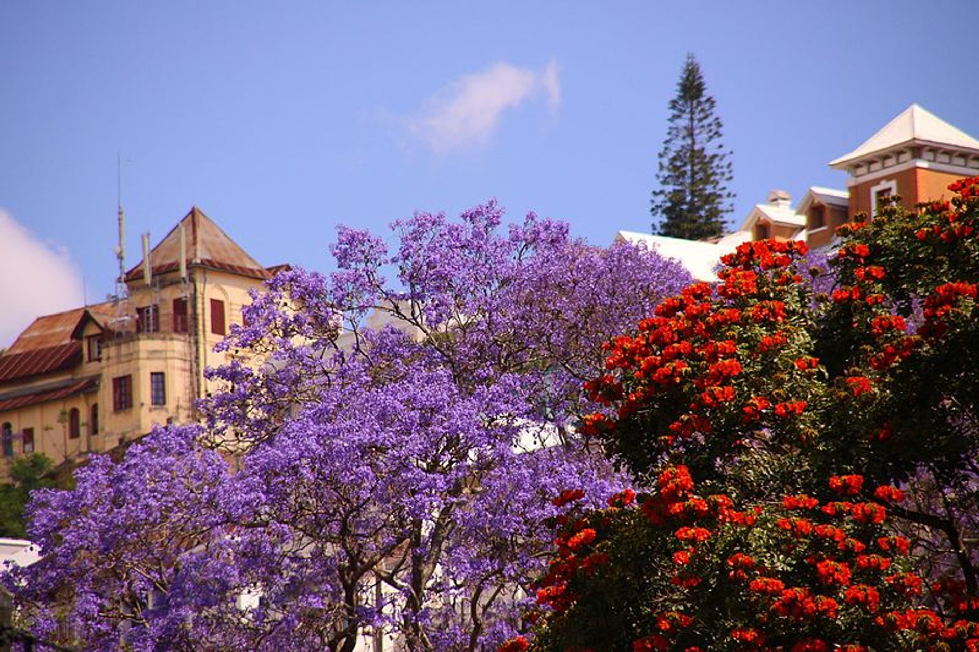
<svg viewBox="0 0 979 652"><path fill-rule="evenodd" d="M642 489L556 524L539 650L977 650L979 177L723 259L609 345L583 429Z"/></svg>

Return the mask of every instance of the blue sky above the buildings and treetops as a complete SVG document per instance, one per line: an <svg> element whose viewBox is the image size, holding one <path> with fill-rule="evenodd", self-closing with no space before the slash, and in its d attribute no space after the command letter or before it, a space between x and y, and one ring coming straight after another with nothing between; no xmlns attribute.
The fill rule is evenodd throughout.
<svg viewBox="0 0 979 652"><path fill-rule="evenodd" d="M689 51L733 224L772 188L845 187L826 162L911 103L979 136L972 6L7 0L0 305L47 303L0 312L0 347L113 290L117 155L130 264L192 205L260 262L321 270L337 224L489 198L606 244L650 229Z"/></svg>

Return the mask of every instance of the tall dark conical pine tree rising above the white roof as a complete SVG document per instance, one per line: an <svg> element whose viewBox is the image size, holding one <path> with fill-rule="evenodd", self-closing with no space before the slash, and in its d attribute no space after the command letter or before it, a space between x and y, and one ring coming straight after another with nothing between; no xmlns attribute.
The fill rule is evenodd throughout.
<svg viewBox="0 0 979 652"><path fill-rule="evenodd" d="M730 152L721 144L721 118L707 95L700 64L686 55L670 101L670 128L660 152L659 188L653 191L653 228L662 235L697 240L721 235L733 193Z"/></svg>

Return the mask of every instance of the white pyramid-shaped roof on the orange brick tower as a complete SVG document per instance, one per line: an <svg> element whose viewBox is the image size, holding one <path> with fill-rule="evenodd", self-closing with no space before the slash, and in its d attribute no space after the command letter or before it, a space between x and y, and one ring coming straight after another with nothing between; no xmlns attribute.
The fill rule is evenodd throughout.
<svg viewBox="0 0 979 652"><path fill-rule="evenodd" d="M901 115L870 136L856 150L830 161L829 165L842 168L847 163L911 143L944 145L979 153L979 140L918 105L912 104L901 112Z"/></svg>

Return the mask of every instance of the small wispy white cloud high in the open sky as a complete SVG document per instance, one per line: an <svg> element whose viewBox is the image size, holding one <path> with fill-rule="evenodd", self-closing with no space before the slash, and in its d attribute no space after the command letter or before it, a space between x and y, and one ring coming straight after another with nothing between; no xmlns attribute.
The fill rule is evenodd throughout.
<svg viewBox="0 0 979 652"><path fill-rule="evenodd" d="M425 109L409 121L411 131L434 151L486 142L507 109L546 95L551 111L561 102L558 67L550 62L539 72L510 64L495 64L451 82Z"/></svg>

